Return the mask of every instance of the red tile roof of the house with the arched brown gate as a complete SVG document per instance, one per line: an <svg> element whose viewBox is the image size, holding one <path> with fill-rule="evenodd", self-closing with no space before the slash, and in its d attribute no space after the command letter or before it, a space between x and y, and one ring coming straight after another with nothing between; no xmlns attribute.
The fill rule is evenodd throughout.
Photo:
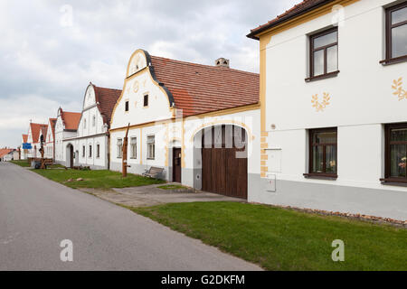
<svg viewBox="0 0 407 289"><path fill-rule="evenodd" d="M151 56L156 79L168 89L183 115L259 102L259 74Z"/></svg>

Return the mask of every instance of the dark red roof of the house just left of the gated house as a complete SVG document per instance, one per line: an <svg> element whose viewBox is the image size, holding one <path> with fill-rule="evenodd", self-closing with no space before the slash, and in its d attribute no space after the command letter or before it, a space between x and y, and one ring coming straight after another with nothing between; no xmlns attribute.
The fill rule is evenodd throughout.
<svg viewBox="0 0 407 289"><path fill-rule="evenodd" d="M90 84L95 89L96 102L99 103L99 112L103 117L103 122L109 126L111 113L121 95L121 90L99 88L92 83Z"/></svg>

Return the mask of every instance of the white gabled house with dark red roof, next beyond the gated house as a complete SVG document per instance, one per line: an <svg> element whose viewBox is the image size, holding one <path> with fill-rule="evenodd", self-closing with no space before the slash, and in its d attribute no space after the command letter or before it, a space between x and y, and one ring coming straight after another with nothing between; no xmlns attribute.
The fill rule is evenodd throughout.
<svg viewBox="0 0 407 289"><path fill-rule="evenodd" d="M87 87L77 134L63 139L66 166L83 165L91 169L109 169L109 125L119 89Z"/></svg>

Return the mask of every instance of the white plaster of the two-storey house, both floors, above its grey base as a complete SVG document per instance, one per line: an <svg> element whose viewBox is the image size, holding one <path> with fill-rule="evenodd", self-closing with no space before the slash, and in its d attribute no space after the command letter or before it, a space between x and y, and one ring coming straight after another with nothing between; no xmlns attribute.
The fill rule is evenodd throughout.
<svg viewBox="0 0 407 289"><path fill-rule="evenodd" d="M339 178L329 183L383 189L379 182L383 177L382 124L407 120L407 99L399 101L392 89L393 79L407 79L407 63L379 64L385 52L382 6L390 2L362 0L345 6L345 20L338 27L340 73L336 78L305 82L308 34L328 27L333 14L271 37L266 52L266 130L269 147L282 148L279 179L328 182L302 176L308 172L306 130L335 126ZM317 112L311 98L317 94L321 99L323 92L330 94L331 103ZM271 130L271 125L277 129Z"/></svg>

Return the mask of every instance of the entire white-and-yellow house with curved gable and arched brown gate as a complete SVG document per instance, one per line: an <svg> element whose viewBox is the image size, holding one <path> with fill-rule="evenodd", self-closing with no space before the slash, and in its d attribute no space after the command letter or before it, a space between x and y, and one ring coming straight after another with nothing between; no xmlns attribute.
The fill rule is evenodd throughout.
<svg viewBox="0 0 407 289"><path fill-rule="evenodd" d="M128 172L159 167L169 182L247 199L248 175L260 175L258 87L258 74L135 51L112 113L110 169L121 171L129 125Z"/></svg>

